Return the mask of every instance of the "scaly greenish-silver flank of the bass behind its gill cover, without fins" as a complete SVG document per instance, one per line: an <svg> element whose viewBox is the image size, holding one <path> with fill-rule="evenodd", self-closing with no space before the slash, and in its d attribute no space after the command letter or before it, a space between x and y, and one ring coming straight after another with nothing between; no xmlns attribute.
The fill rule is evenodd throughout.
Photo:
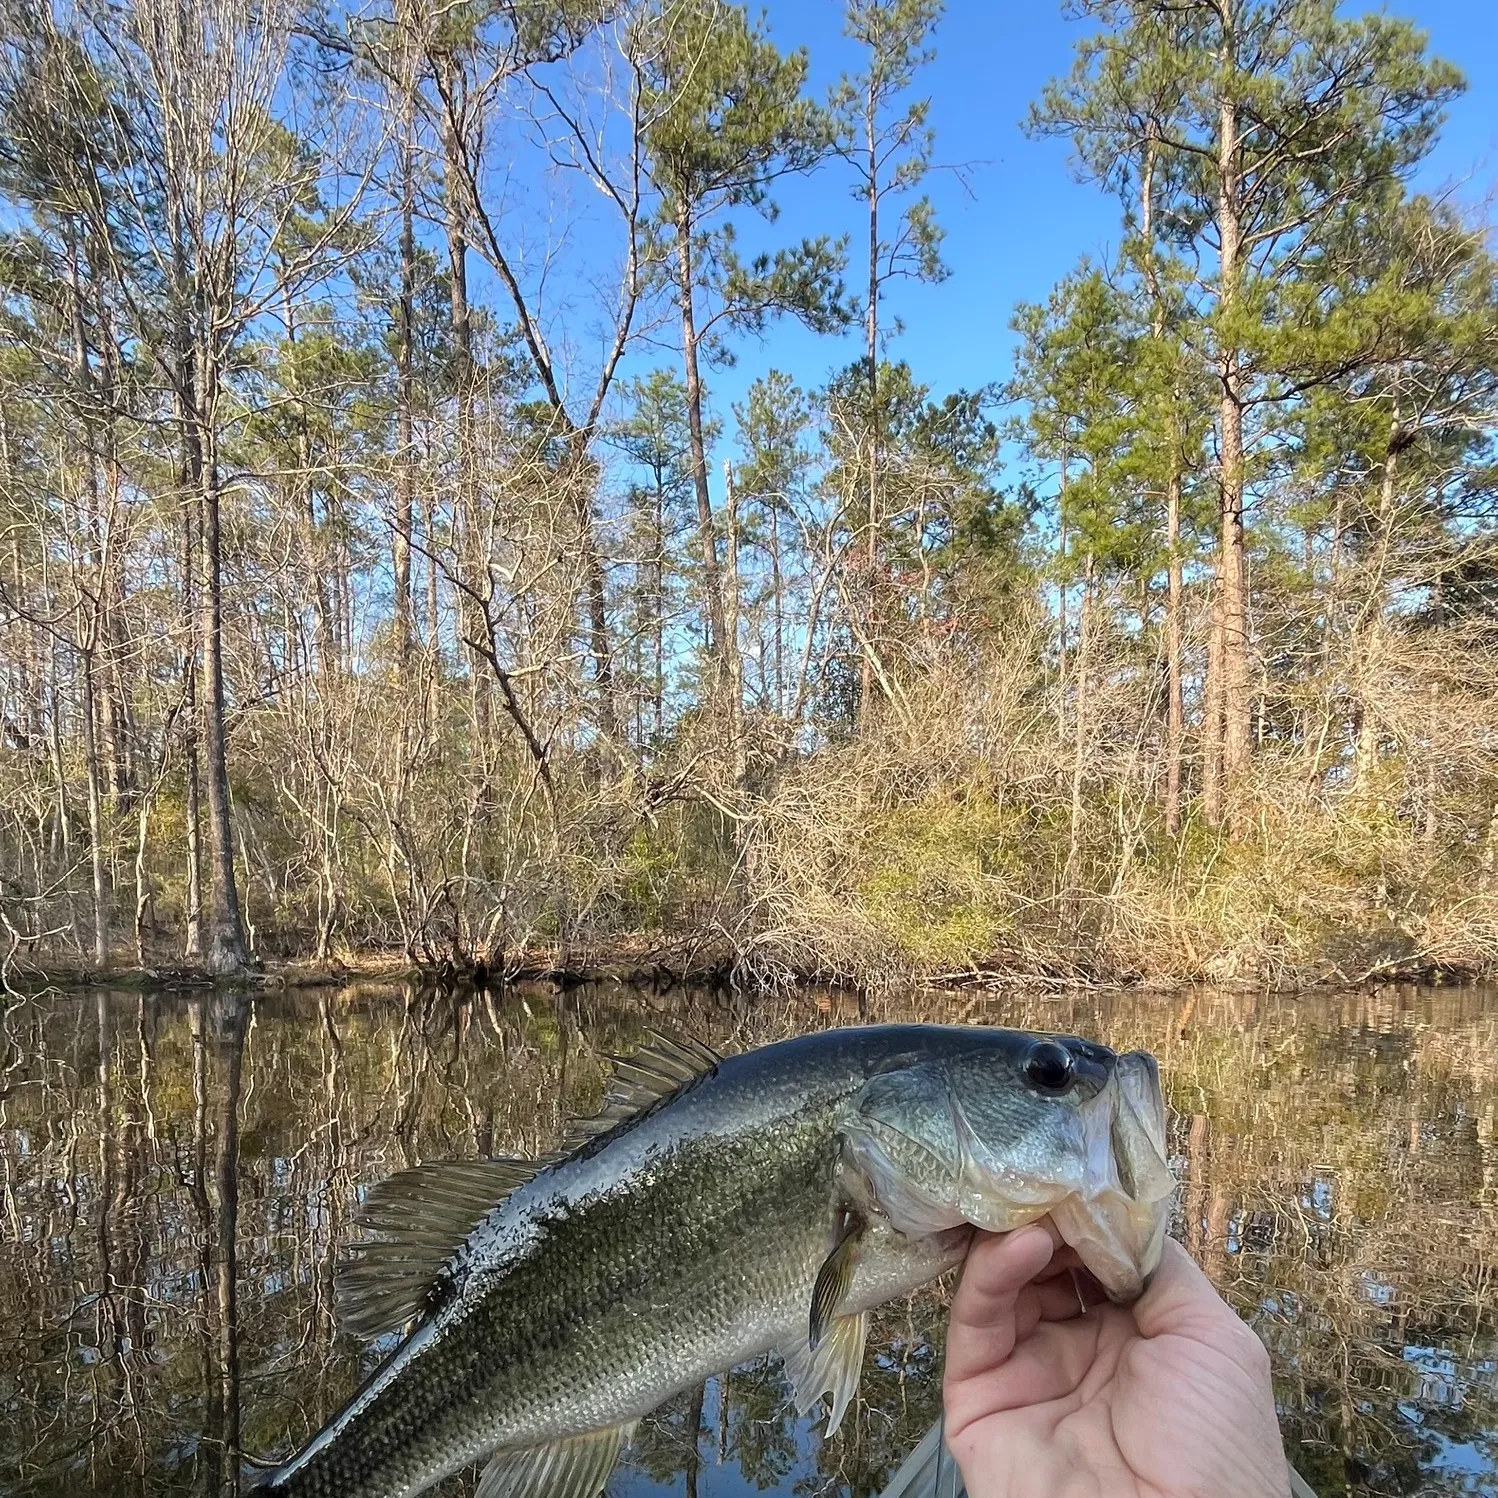
<svg viewBox="0 0 1498 1498"><path fill-rule="evenodd" d="M479 1243L454 1302L282 1489L419 1492L497 1444L647 1414L683 1377L764 1353L803 1323L833 1228L836 1115L863 1068L837 1058L788 1088L734 1064L746 1059L677 1113L515 1192L506 1206L527 1210L532 1251L485 1270ZM628 1164L599 1168L611 1152Z"/></svg>

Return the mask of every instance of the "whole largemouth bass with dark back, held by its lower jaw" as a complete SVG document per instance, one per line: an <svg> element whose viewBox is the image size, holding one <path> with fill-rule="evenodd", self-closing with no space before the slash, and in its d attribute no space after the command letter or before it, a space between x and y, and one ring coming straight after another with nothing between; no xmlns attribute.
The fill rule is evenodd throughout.
<svg viewBox="0 0 1498 1498"><path fill-rule="evenodd" d="M404 1341L271 1491L410 1498L490 1458L481 1498L596 1498L641 1416L779 1351L798 1408L857 1390L867 1312L972 1227L1050 1213L1110 1296L1159 1258L1155 1062L1070 1037L903 1025L740 1056L658 1040L545 1161L392 1176L340 1282Z"/></svg>

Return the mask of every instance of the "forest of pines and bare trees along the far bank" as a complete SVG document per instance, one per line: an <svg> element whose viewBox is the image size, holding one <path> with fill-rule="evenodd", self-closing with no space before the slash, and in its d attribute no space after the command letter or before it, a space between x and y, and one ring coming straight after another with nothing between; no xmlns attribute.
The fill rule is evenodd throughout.
<svg viewBox="0 0 1498 1498"><path fill-rule="evenodd" d="M0 974L1498 962L1462 73L1067 10L1112 247L953 389L941 0L0 0Z"/></svg>

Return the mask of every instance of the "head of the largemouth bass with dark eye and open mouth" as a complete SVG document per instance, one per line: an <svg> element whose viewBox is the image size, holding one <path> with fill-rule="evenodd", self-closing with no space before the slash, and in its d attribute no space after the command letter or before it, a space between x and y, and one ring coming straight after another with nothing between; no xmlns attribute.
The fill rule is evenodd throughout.
<svg viewBox="0 0 1498 1498"><path fill-rule="evenodd" d="M1155 1058L974 1034L971 1047L894 1062L852 1100L842 1135L855 1204L911 1236L960 1222L1007 1233L1049 1213L1107 1294L1134 1299L1174 1191Z"/></svg>

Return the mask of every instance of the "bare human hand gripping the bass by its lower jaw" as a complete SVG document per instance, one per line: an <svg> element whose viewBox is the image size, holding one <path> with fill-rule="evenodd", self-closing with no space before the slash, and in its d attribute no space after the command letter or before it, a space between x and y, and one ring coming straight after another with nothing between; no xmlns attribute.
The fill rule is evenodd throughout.
<svg viewBox="0 0 1498 1498"><path fill-rule="evenodd" d="M1290 1492L1269 1354L1173 1242L1116 1306L1049 1222L977 1234L944 1399L969 1498Z"/></svg>

